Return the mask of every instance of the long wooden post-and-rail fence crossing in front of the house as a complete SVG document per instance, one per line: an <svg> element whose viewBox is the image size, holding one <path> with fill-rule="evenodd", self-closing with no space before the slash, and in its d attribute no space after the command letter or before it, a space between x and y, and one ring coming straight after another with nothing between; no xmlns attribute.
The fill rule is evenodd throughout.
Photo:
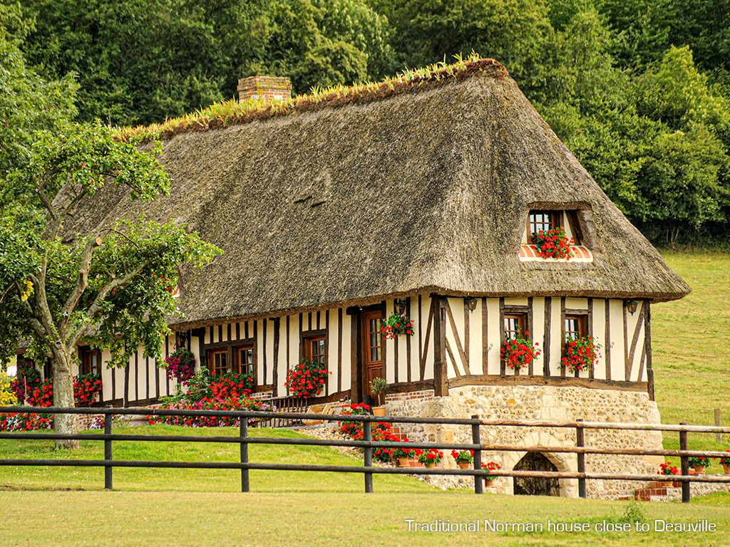
<svg viewBox="0 0 730 547"><path fill-rule="evenodd" d="M298 412L261 412L261 411L183 411L162 408L34 408L34 407L0 407L1 414L33 413L33 414L94 414L104 415L104 433L77 432L74 434L43 432L0 432L4 439L51 439L56 441L103 441L104 459L0 459L0 465L14 466L64 466L64 467L103 467L104 487L112 489L113 468L183 468L183 469L238 469L241 471L241 490L249 492L249 470L293 470L293 471L327 471L334 473L364 474L365 492L373 492L372 476L390 475L445 475L470 476L475 479L475 493L483 493L483 482L488 476L535 477L535 478L573 478L578 481L578 495L586 497L585 484L588 480L619 481L656 481L662 478L657 475L632 475L629 473L588 473L585 470L585 454L618 454L618 455L661 455L680 457L682 474L672 476L672 481L682 483L682 500L690 500L690 483L730 484L730 476L698 476L689 474L689 457L725 457L723 451L699 451L687 449L688 432L730 433L730 427L705 427L686 424L622 424L611 422L549 422L535 420L484 420L479 416L471 418L408 418L394 416L358 416L333 414L305 414ZM237 437L202 436L202 435L128 435L112 433L112 417L117 415L137 416L217 416L239 419L239 435ZM346 420L347 422L363 422L364 435L362 441L297 439L251 437L248 435L249 421L264 423L297 423L304 420L331 422ZM372 440L372 422L398 424L441 424L465 425L472 430L472 443L411 443ZM481 443L480 427L562 427L572 428L576 432L576 446L511 446ZM680 450L661 449L607 449L584 446L583 431L590 430L645 430L672 431L680 434ZM163 462L146 460L118 460L112 457L113 441L153 441L153 442L191 442L191 443L236 443L240 446L239 462ZM294 445L294 446L349 446L364 449L364 465L294 465L267 464L250 462L248 446L251 444ZM378 448L396 448L407 446L412 449L456 449L474 451L473 469L427 469L427 468L380 468L372 465L372 451ZM529 470L485 470L482 468L483 451L524 451L524 452L559 452L576 454L577 472L529 471ZM666 477L669 478L669 477Z"/></svg>

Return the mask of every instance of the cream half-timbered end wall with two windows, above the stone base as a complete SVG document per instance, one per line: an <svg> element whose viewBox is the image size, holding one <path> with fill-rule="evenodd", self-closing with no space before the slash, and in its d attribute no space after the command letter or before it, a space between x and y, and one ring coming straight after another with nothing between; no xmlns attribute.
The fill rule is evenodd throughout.
<svg viewBox="0 0 730 547"><path fill-rule="evenodd" d="M449 381L464 376L552 376L613 381L648 381L649 303L640 301L632 315L624 300L601 298L480 298L469 311L463 298L445 298L445 353ZM528 338L540 354L528 369L505 368L499 357L504 342L504 314L524 314ZM588 336L600 344L590 373L561 368L566 315L585 317Z"/></svg>

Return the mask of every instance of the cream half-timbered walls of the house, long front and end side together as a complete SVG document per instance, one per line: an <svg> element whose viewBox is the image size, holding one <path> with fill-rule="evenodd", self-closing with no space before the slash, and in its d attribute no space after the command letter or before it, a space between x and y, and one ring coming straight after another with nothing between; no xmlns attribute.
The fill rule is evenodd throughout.
<svg viewBox="0 0 730 547"><path fill-rule="evenodd" d="M648 301L639 302L633 315L626 311L624 300L600 298L477 298L474 311L469 311L464 298L417 295L405 302L414 334L383 341L383 373L391 386L418 382L421 386L429 382L435 385L443 378L451 387L504 376L637 383L647 382L650 376ZM395 309L395 300L385 300L381 306L383 316L388 317ZM505 314L522 314L524 330L539 344L539 357L519 372L506 368L499 356ZM584 317L586 334L601 345L601 357L590 373L570 373L560 366L566 315ZM353 351L353 341L360 334L353 335L354 317L356 312L334 308L205 327L201 337L191 338L191 349L199 355L201 366L207 366L211 349L253 344L256 391L263 396L283 397L288 395L287 371L304 357L305 341L310 336L324 335L331 374L322 395L345 396L353 386L353 371L357 370L353 368L353 357L358 354ZM140 359L141 354L137 357ZM233 360L231 351L229 369L234 366ZM146 370L146 365L146 361L131 364L133 370L135 366ZM145 383L147 376L135 379L139 381L137 389L145 395L147 385L156 387Z"/></svg>

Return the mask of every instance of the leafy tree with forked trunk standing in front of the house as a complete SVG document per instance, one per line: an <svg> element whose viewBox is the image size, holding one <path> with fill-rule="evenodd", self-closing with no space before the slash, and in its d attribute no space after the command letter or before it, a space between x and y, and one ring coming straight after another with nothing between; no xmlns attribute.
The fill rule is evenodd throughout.
<svg viewBox="0 0 730 547"><path fill-rule="evenodd" d="M50 360L54 406L72 407L77 343L109 348L110 365L123 365L140 345L160 361L177 268L204 265L220 251L174 222L64 230L77 206L105 185L150 201L169 193L169 182L153 155L98 123L40 131L36 139L26 165L0 185L0 351L6 357L26 338L31 357ZM56 416L56 431L73 432L72 418Z"/></svg>

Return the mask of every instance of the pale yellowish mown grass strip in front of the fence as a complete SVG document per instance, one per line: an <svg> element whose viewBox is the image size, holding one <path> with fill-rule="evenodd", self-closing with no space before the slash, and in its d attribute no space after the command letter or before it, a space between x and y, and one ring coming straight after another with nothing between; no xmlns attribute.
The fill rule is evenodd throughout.
<svg viewBox="0 0 730 547"><path fill-rule="evenodd" d="M0 492L0 544L64 546L727 546L728 500L681 505L556 497L230 492ZM408 531L418 523L480 522L479 532ZM649 532L636 532L634 521ZM653 532L655 521L707 520L715 532ZM484 531L484 521L539 523L542 532ZM588 532L548 532L587 524ZM631 532L596 532L626 522Z"/></svg>

